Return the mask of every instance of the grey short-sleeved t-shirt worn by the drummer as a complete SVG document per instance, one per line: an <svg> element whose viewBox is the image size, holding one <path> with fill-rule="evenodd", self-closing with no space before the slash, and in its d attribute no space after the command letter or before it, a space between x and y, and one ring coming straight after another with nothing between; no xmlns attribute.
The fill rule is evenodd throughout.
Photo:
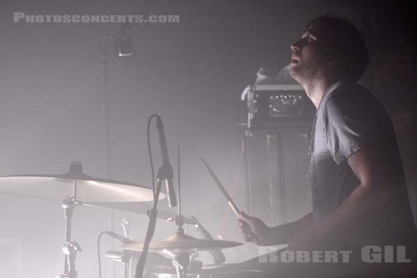
<svg viewBox="0 0 417 278"><path fill-rule="evenodd" d="M360 181L347 164L347 159L360 149L376 144L386 146L384 152L389 154L392 172L398 181L395 190L401 195L400 199L409 202L395 133L382 104L356 83L339 81L330 86L318 106L311 137L309 172L313 221L335 211L359 186ZM409 214L411 210L407 205L403 208L398 213L408 219L410 215L404 214ZM347 231L347 234L359 232L369 238L377 229L386 226L380 219L375 219L375 222L368 223L366 229ZM384 231L391 234L389 229Z"/></svg>

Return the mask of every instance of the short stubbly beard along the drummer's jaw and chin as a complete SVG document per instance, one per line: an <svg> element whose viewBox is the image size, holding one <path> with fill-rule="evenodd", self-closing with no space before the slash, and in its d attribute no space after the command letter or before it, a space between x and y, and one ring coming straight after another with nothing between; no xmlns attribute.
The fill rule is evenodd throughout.
<svg viewBox="0 0 417 278"><path fill-rule="evenodd" d="M290 70L290 76L300 84L311 83L318 79L320 61L317 57L298 61Z"/></svg>

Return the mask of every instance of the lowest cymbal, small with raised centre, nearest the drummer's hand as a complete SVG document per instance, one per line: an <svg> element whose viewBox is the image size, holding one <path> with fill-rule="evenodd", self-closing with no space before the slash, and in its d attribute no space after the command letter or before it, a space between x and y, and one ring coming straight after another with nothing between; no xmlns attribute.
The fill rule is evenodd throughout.
<svg viewBox="0 0 417 278"><path fill-rule="evenodd" d="M227 240L207 240L193 238L186 234L174 234L165 240L152 241L149 244L149 251L154 252L196 252L196 251L207 251L213 249L224 249L229 247L235 247L242 245L242 243L236 243L234 241ZM142 251L143 243L130 243L122 245L122 250L130 251Z"/></svg>

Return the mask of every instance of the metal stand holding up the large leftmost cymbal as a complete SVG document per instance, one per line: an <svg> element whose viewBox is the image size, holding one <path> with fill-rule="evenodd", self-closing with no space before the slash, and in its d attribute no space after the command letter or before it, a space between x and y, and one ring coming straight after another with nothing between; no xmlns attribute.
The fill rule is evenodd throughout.
<svg viewBox="0 0 417 278"><path fill-rule="evenodd" d="M74 208L81 204L81 202L76 200L76 180L72 181L72 195L65 196L62 202L64 208L64 217L65 217L65 244L63 246L63 252L65 254L64 262L64 274L57 275L56 278L77 278L78 273L76 272L75 262L76 254L78 252L83 252L79 243L71 240L71 230L72 230L72 214Z"/></svg>

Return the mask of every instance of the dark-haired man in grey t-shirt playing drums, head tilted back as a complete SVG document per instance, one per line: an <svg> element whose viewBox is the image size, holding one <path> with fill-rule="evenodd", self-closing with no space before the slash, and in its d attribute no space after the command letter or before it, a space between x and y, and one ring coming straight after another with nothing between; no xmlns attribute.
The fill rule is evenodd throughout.
<svg viewBox="0 0 417 278"><path fill-rule="evenodd" d="M405 246L411 263L391 263L384 274L411 277L417 231L391 120L357 84L369 60L361 33L346 19L321 16L291 49L291 76L317 108L309 152L313 210L277 227L242 212L244 240L289 243L293 251Z"/></svg>

